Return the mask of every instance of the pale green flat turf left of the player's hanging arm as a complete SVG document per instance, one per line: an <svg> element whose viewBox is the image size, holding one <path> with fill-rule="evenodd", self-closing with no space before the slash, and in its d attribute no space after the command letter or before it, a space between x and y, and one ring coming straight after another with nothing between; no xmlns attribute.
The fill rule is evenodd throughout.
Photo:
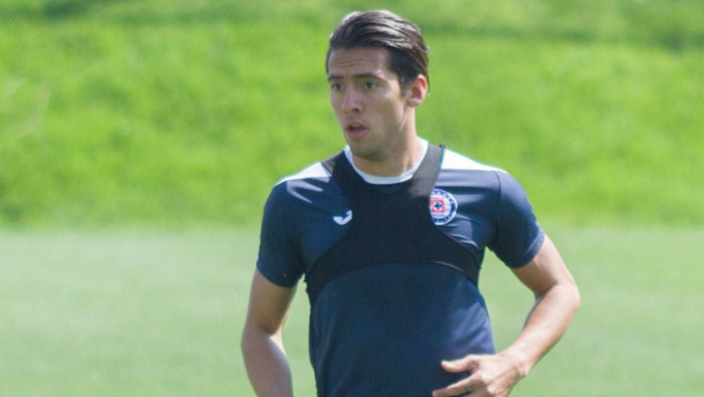
<svg viewBox="0 0 704 397"><path fill-rule="evenodd" d="M238 396L253 236L0 234L0 395Z"/></svg>

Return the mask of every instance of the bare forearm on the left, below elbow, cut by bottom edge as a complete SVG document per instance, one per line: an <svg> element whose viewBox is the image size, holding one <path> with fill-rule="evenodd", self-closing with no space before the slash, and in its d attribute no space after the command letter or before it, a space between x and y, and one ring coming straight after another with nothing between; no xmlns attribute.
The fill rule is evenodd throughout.
<svg viewBox="0 0 704 397"><path fill-rule="evenodd" d="M257 396L293 396L291 370L280 332L268 334L245 327L241 348L249 381Z"/></svg>

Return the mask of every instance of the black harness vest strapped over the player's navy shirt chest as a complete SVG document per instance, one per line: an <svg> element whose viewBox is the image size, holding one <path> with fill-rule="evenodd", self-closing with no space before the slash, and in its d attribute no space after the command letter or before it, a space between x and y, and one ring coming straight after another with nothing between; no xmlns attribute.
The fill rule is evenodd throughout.
<svg viewBox="0 0 704 397"><path fill-rule="evenodd" d="M362 267L385 263L446 265L477 284L477 258L439 229L430 216L430 194L443 155L444 147L429 145L413 178L391 192L365 182L344 152L322 162L344 192L352 220L337 244L306 272L306 291L311 304L333 279Z"/></svg>

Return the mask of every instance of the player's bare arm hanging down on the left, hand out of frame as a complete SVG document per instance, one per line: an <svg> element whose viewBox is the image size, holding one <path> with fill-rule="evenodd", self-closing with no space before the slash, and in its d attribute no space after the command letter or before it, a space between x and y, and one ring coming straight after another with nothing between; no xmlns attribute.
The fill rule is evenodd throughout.
<svg viewBox="0 0 704 397"><path fill-rule="evenodd" d="M254 273L241 348L257 396L293 396L281 331L295 293L295 288L272 284L259 270Z"/></svg>

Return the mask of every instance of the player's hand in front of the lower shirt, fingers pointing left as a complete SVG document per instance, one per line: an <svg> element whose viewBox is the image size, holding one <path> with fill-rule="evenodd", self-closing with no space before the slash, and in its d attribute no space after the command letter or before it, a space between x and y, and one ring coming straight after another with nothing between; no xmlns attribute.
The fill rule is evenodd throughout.
<svg viewBox="0 0 704 397"><path fill-rule="evenodd" d="M470 372L470 377L433 391L433 397L470 396L506 397L523 377L515 360L508 355L467 355L454 361L443 361L447 372Z"/></svg>

